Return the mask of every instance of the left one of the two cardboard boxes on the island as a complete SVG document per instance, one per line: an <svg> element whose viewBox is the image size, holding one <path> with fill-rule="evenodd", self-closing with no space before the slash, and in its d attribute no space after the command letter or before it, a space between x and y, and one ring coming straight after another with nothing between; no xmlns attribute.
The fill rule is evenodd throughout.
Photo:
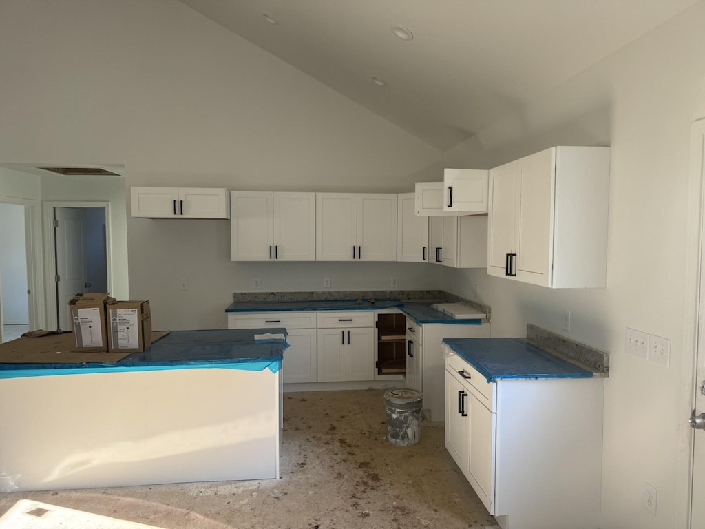
<svg viewBox="0 0 705 529"><path fill-rule="evenodd" d="M114 301L109 293L78 293L68 302L76 347L84 351L107 351L105 305Z"/></svg>

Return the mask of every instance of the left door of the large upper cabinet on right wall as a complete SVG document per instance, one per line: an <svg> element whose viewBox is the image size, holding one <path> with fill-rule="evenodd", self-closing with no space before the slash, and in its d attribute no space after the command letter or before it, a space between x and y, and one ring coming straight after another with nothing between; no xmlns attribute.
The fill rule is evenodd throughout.
<svg viewBox="0 0 705 529"><path fill-rule="evenodd" d="M505 277L507 256L516 253L517 162L489 171L487 273Z"/></svg>

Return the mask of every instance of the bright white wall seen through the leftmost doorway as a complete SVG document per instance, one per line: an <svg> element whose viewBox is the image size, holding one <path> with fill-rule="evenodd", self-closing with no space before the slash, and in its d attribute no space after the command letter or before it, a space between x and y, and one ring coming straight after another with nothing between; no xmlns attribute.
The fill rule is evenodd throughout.
<svg viewBox="0 0 705 529"><path fill-rule="evenodd" d="M0 202L0 324L29 323L25 207Z"/></svg>

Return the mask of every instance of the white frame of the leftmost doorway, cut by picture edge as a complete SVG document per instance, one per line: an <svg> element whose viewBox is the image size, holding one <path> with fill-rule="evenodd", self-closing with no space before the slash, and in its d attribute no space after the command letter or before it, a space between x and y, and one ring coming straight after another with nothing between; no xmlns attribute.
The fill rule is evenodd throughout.
<svg viewBox="0 0 705 529"><path fill-rule="evenodd" d="M25 207L25 245L27 259L27 312L30 331L43 329L44 319L44 276L42 275L42 210L39 200L0 195L0 202ZM0 284L0 288L2 285ZM0 339L2 337L2 299L0 298Z"/></svg>

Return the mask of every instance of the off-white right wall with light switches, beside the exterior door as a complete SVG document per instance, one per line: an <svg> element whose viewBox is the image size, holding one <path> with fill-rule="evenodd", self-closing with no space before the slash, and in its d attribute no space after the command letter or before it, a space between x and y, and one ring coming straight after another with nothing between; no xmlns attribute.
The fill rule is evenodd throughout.
<svg viewBox="0 0 705 529"><path fill-rule="evenodd" d="M687 525L693 387L684 327L696 242L687 238L695 227L689 141L692 122L705 116L703 20L699 2L448 153L448 164L489 168L552 145L611 145L607 288L554 291L478 270L445 274L460 295L474 297L477 284L496 336L521 336L531 322L611 353L603 528ZM570 333L562 310L571 311ZM670 366L625 353L627 326L670 339ZM644 482L658 490L656 517L643 507Z"/></svg>

